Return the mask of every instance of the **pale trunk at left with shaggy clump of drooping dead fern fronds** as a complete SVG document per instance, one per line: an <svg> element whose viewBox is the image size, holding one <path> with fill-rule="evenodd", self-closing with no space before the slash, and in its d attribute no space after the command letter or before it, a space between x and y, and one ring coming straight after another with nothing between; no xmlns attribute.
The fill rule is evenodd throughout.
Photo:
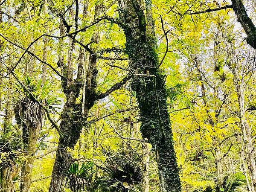
<svg viewBox="0 0 256 192"><path fill-rule="evenodd" d="M29 15L29 20L32 20L30 13L30 7L28 1L25 0L26 12ZM44 1L44 9L47 9L47 0ZM33 36L31 41L33 41ZM31 47L34 51L34 45ZM44 52L43 60L47 60L47 41L44 41ZM43 67L42 82L45 82L46 69ZM30 61L27 61L25 78L30 78L35 75L35 57L32 57ZM43 104L44 105L44 104ZM39 106L34 100L30 99L29 96L21 100L18 107L15 109L15 118L20 128L22 129L22 142L24 151L24 162L21 167L21 179L20 179L20 192L29 192L32 180L32 169L35 159L36 143L39 137L39 132L42 128L43 117L45 111Z"/></svg>

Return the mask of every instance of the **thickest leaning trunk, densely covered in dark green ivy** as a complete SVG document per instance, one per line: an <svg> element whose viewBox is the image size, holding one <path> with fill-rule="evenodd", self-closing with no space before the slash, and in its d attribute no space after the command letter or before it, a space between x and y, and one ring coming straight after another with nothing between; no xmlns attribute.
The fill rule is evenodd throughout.
<svg viewBox="0 0 256 192"><path fill-rule="evenodd" d="M166 87L156 52L156 38L152 24L154 22L150 15L147 15L146 20L144 3L147 11L150 11L150 1L120 0L119 15L122 18L120 26L126 36L129 67L134 71L132 89L136 92L140 108L142 122L140 130L143 137L148 138L155 149L161 191L180 192Z"/></svg>

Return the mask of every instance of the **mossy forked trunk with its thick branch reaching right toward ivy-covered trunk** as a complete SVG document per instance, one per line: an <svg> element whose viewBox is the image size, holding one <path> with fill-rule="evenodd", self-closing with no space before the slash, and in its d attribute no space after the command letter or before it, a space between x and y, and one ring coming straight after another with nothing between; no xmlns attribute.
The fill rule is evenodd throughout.
<svg viewBox="0 0 256 192"><path fill-rule="evenodd" d="M76 15L78 15L78 3L76 3ZM87 6L87 1L84 3L84 6ZM99 9L101 5L96 4L95 13L94 13L94 21L98 19L99 16ZM86 10L84 9L83 14L86 13ZM76 20L77 17L75 17ZM61 30L60 35L64 35L64 17L61 18ZM67 23L67 21L65 21ZM77 26L76 26L77 27ZM66 25L67 31L69 30L68 26ZM75 37L73 36L73 40L75 41ZM75 41L77 42L77 41ZM93 42L98 43L99 42L99 32L95 31L95 34L93 35ZM61 79L61 85L62 90L66 96L66 103L64 104L63 111L61 113L61 124L59 127L59 143L58 143L58 150L56 152L56 158L55 163L52 170L52 180L49 188L49 192L61 192L62 191L62 184L64 181L65 176L67 175L69 166L71 163L73 163L73 158L71 157L70 152L67 150L68 148L73 149L76 145L80 134L81 129L83 126L86 125L87 121L87 114L90 110L90 108L93 107L94 103L98 99L103 99L109 94L111 94L112 91L119 89L122 87L125 82L130 79L129 77L126 77L122 79L122 81L117 82L116 84L113 84L113 86L106 91L105 93L96 94L96 86L97 86L97 56L94 53L90 54L89 57L89 64L88 69L86 71L86 74L84 75L84 60L82 57L84 57L83 49L80 49L79 53L79 66L77 70L77 77L76 79L73 79L72 74L72 67L70 66L72 64L72 54L68 54L68 64L64 64L64 51L62 49L63 40L60 39L59 41L59 47L60 47L60 55L58 60L58 66L61 68L62 75L64 76ZM83 45L81 42L79 42L80 45ZM72 44L69 44L69 50L71 49ZM87 46L82 46L86 48ZM88 50L88 47L87 47ZM90 49L90 51L93 49ZM83 78L86 77L84 80ZM85 82L85 84L84 84ZM83 95L82 95L82 101L79 104L76 104L76 99L79 97L79 93L81 88L83 87Z"/></svg>

